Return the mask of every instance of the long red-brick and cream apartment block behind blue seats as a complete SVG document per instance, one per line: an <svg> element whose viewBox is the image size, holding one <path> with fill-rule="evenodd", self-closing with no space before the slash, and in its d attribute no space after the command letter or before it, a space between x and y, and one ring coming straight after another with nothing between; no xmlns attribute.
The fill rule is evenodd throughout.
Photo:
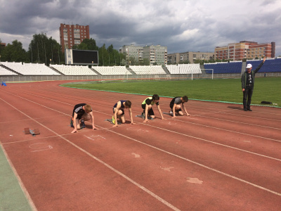
<svg viewBox="0 0 281 211"><path fill-rule="evenodd" d="M242 60L254 58L275 57L275 42L268 44L258 44L255 41L240 41L230 43L228 46L215 48L216 59Z"/></svg>

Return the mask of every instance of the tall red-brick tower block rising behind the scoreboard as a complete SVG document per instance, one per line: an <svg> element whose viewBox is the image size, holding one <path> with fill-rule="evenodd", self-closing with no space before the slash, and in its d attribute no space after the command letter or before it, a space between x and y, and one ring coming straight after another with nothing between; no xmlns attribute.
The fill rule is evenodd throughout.
<svg viewBox="0 0 281 211"><path fill-rule="evenodd" d="M89 25L60 24L60 45L63 52L65 49L72 49L72 46L81 44L84 39L90 39Z"/></svg>

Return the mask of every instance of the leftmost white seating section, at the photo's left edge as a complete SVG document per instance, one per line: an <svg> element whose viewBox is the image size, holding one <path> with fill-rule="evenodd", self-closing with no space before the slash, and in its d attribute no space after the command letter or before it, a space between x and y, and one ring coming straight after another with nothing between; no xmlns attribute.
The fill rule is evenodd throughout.
<svg viewBox="0 0 281 211"><path fill-rule="evenodd" d="M48 68L45 64L34 63L8 63L4 62L1 65L20 73L21 75L60 75L51 68Z"/></svg>

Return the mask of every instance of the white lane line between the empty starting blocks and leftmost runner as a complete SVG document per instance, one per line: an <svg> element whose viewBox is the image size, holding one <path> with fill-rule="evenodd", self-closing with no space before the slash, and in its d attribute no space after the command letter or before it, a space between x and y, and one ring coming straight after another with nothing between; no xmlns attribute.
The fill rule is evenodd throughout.
<svg viewBox="0 0 281 211"><path fill-rule="evenodd" d="M4 101L4 99L1 98L2 101ZM9 106L11 106L12 108L15 108L14 106L12 106L10 103L4 101L5 103L7 103ZM15 110L18 110L17 108L15 108ZM45 127L46 129L48 129L49 131L53 132L54 134L56 134L57 136L59 136L61 139L64 139L65 141L67 141L68 143L70 143L72 146L76 147L77 149L79 149L80 151L86 153L86 155L89 155L91 158L93 158L94 160L100 162L101 164L105 165L107 168L109 168L110 170L112 170L113 172L115 172L116 174L119 174L119 176L123 177L124 179L126 179L127 181L130 181L132 184L136 185L138 188L141 188L143 191L145 191L146 193L148 193L150 196L156 198L157 200L159 200L161 203L163 203L164 205L170 207L172 210L179 210L177 207L175 207L174 205L171 205L170 203L168 203L166 200L164 200L163 198L157 196L155 193L153 193L152 191L148 190L148 188L145 188L144 186L142 186L141 184L138 184L136 181L134 181L133 179L127 177L125 174L122 174L122 172L119 172L118 170L116 170L114 167L108 165L106 162L103 162L103 160L100 160L98 158L96 158L94 155L92 155L91 153L85 151L83 148L77 146L75 143L72 143L70 140L66 139L64 136L60 136L60 134L54 132L52 129L46 127L44 124L41 124L40 122L38 122L37 120L34 120L32 117L30 117L29 115L23 113L21 110L18 110L18 112L22 113L23 115L27 116L30 118L30 120L33 120L34 122L37 122L37 124L40 124L42 127ZM110 130L108 130L110 131ZM111 132L111 131L110 131Z"/></svg>

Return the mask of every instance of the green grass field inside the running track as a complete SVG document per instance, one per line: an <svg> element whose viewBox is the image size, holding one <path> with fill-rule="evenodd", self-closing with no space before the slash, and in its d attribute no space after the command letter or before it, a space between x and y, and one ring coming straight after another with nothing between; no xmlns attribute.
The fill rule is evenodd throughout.
<svg viewBox="0 0 281 211"><path fill-rule="evenodd" d="M186 95L190 99L242 103L240 79L77 82L62 86L171 97ZM277 103L278 107L281 106L280 77L256 77L251 104L263 105L261 101L270 101Z"/></svg>

